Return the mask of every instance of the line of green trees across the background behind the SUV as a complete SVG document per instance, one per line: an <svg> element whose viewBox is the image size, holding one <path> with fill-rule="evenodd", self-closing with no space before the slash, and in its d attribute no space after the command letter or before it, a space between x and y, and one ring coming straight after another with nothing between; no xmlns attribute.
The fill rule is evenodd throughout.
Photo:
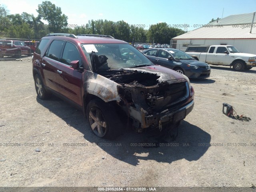
<svg viewBox="0 0 256 192"><path fill-rule="evenodd" d="M89 20L82 26L68 25L68 16L62 14L61 8L50 1L38 5L38 16L23 12L22 14L9 14L4 6L0 5L0 38L20 38L40 40L48 33L70 34L104 34L126 42L170 43L170 40L185 31L172 28L167 23L150 25L148 30L129 25L123 20L113 22L110 20ZM48 24L44 24L46 20Z"/></svg>

